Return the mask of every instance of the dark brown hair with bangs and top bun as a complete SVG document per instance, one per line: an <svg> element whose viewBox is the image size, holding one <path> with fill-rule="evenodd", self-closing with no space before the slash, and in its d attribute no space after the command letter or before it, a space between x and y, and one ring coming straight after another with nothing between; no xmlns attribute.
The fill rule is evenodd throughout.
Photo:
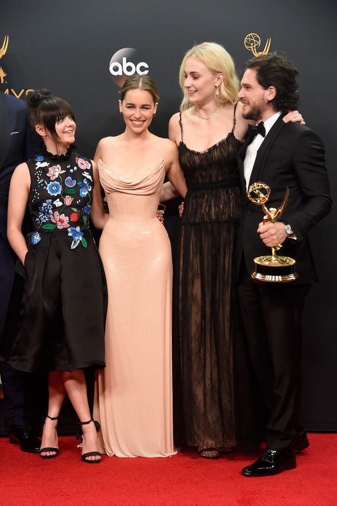
<svg viewBox="0 0 337 506"><path fill-rule="evenodd" d="M50 91L44 88L28 93L26 102L29 122L33 129L35 130L35 126L38 124L43 125L58 146L59 138L55 130L55 123L66 116L71 116L75 120L71 105L62 98L54 97Z"/></svg>

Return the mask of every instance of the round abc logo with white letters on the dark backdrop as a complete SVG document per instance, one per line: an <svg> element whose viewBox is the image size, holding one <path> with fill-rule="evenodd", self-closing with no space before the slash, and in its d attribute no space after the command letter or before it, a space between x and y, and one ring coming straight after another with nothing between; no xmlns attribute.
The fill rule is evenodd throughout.
<svg viewBox="0 0 337 506"><path fill-rule="evenodd" d="M125 79L130 75L144 75L149 71L149 66L145 62L134 63L137 61L137 50L134 48L119 49L111 58L109 63L110 74L117 86L122 86Z"/></svg>

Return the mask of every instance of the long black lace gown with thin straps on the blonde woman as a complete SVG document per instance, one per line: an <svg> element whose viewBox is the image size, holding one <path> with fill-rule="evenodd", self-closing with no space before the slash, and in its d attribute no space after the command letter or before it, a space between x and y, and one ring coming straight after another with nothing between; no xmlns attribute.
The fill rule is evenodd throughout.
<svg viewBox="0 0 337 506"><path fill-rule="evenodd" d="M233 269L241 142L234 136L234 122L226 139L193 151L183 142L181 118L180 125L179 160L188 192L175 286L174 335L181 358L174 366L175 439L230 450L251 446L259 432ZM183 424L177 415L181 403Z"/></svg>

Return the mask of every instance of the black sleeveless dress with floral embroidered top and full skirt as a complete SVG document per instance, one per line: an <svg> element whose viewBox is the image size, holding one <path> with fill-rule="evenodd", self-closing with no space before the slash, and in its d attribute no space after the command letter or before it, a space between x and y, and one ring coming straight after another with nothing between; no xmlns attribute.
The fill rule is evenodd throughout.
<svg viewBox="0 0 337 506"><path fill-rule="evenodd" d="M0 356L26 372L105 367L106 280L88 227L93 169L75 150L27 161L35 230L17 262L25 284L13 346Z"/></svg>

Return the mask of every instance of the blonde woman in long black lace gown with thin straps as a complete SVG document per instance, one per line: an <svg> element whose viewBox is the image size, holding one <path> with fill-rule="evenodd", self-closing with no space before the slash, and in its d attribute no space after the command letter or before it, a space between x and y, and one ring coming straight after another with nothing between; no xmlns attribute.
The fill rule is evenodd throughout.
<svg viewBox="0 0 337 506"><path fill-rule="evenodd" d="M221 449L251 447L260 432L233 276L241 214L236 153L248 122L236 103L234 62L222 46L188 51L180 87L181 112L169 125L188 187L175 291L175 435L182 412L183 441L217 458ZM161 200L172 192L164 185Z"/></svg>

